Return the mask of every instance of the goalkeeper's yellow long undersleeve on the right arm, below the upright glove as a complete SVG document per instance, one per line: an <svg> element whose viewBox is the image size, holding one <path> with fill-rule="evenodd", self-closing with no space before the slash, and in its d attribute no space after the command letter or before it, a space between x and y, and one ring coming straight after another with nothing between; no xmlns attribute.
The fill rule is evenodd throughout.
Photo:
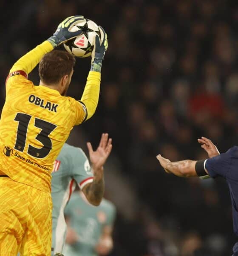
<svg viewBox="0 0 238 256"><path fill-rule="evenodd" d="M98 105L99 92L100 92L101 73L96 71L90 71L88 74L87 83L82 94L80 102L86 107L87 116L85 120L88 120L93 116ZM82 120L84 121L84 120Z"/></svg>

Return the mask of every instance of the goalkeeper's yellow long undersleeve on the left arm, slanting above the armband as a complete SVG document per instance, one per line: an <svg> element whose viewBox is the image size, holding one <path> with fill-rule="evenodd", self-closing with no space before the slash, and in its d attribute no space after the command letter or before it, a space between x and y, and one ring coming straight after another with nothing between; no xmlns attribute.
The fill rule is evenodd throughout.
<svg viewBox="0 0 238 256"><path fill-rule="evenodd" d="M21 57L11 68L9 74L14 71L22 70L26 74L29 74L34 67L40 62L41 58L45 53L51 52L53 50L53 46L50 42L44 41L42 44L38 45L30 52L26 53L23 57Z"/></svg>

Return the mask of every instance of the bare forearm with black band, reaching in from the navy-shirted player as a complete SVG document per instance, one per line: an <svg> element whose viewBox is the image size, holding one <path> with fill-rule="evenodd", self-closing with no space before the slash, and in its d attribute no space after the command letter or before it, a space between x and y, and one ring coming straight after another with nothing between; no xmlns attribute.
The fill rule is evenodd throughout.
<svg viewBox="0 0 238 256"><path fill-rule="evenodd" d="M157 155L156 158L167 173L173 173L178 177L202 176L199 173L201 172L201 167L199 166L200 161L182 160L178 162L170 162L169 159L162 157L160 154ZM204 169L202 169L202 171L204 172ZM207 173L203 175L206 174Z"/></svg>

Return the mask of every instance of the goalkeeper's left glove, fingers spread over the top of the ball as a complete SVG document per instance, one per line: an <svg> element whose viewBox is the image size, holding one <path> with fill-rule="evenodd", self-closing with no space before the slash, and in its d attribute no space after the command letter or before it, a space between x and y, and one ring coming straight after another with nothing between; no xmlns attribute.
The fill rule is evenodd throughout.
<svg viewBox="0 0 238 256"><path fill-rule="evenodd" d="M82 15L78 16L70 16L63 20L59 26L57 27L56 32L48 38L47 41L49 41L52 46L55 48L59 46L62 43L65 43L66 41L77 37L78 35L82 34L82 30L79 29L76 32L71 32L70 29L72 26L74 26L75 23L77 23L79 20L83 20L84 17Z"/></svg>

